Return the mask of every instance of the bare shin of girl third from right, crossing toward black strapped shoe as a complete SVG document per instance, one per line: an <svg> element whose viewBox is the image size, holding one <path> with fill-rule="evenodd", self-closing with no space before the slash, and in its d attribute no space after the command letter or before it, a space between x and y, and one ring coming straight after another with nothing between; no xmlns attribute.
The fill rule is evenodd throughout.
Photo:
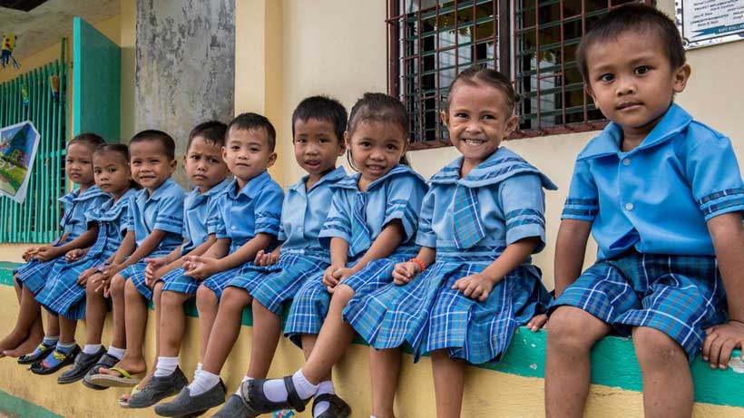
<svg viewBox="0 0 744 418"><path fill-rule="evenodd" d="M344 322L342 313L348 301L354 296L354 289L345 285L336 287L330 300L328 315L320 328L318 341L312 349L308 362L302 367L302 374L312 384L318 384L330 376L333 365L346 353L354 338L354 328Z"/></svg>

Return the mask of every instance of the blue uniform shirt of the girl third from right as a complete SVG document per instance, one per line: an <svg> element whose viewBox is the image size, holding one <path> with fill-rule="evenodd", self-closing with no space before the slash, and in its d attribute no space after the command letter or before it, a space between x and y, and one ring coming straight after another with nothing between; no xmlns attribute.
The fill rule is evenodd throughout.
<svg viewBox="0 0 744 418"><path fill-rule="evenodd" d="M348 261L360 258L375 241L388 223L400 220L405 237L397 253L416 253L414 239L418 226L418 212L424 199L426 180L410 167L398 164L387 174L367 186L366 191L358 189L360 173L339 180L331 188L334 190L328 219L320 230L320 244L330 248L331 238L341 238L348 242ZM363 202L363 209L356 211L357 199ZM357 216L368 231L368 242L355 245L357 235L352 217Z"/></svg>

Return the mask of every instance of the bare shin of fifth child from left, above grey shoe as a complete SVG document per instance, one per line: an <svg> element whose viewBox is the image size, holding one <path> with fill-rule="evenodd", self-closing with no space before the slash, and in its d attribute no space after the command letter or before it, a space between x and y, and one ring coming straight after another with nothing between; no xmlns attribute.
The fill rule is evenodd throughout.
<svg viewBox="0 0 744 418"><path fill-rule="evenodd" d="M214 326L211 327L209 343L202 360L202 370L213 374L220 374L222 365L225 364L232 346L235 345L235 341L238 339L238 335L240 335L240 319L242 318L243 308L250 304L250 299L251 297L248 291L240 287L228 287L222 292L220 308L217 311L217 318L213 322ZM201 316L201 310L199 314ZM256 326L255 321L254 326ZM202 328L200 331L207 332L208 330ZM254 328L254 345L255 338L259 336L257 334L258 331ZM253 355L254 353L251 350L251 365L253 364ZM269 365L265 365L265 367L266 372L263 375L249 375L251 377L265 377L269 371Z"/></svg>

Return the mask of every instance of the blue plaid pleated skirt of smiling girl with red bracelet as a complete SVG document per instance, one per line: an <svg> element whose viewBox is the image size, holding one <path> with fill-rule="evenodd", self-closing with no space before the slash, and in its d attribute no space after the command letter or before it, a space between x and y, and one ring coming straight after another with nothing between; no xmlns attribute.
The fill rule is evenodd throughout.
<svg viewBox="0 0 744 418"><path fill-rule="evenodd" d="M514 329L541 313L550 303L540 270L515 268L484 302L453 290L455 281L489 263L437 261L405 286L390 284L366 297L354 296L345 319L369 345L393 348L408 343L415 361L434 350L473 364L498 362Z"/></svg>

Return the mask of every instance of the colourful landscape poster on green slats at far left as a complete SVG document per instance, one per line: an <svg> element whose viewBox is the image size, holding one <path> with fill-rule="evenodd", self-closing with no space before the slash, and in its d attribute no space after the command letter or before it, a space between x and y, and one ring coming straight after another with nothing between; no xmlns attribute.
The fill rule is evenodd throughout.
<svg viewBox="0 0 744 418"><path fill-rule="evenodd" d="M41 136L26 121L0 129L0 195L23 203Z"/></svg>

